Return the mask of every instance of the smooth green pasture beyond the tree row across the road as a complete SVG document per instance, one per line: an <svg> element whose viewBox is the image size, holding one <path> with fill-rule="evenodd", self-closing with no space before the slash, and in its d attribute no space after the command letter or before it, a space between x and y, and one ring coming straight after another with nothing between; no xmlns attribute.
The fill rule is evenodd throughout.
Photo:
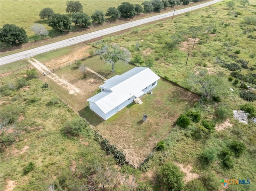
<svg viewBox="0 0 256 191"><path fill-rule="evenodd" d="M24 0L24 1L0 1L0 27L4 24L15 24L21 28L24 28L28 36L34 35L31 27L35 23L43 24L46 30L51 30L47 23L40 19L39 13L43 8L49 7L54 10L55 13L66 13L66 0ZM83 5L84 12L89 16L93 14L95 10L102 10L106 12L109 7L117 7L123 1L122 0L80 0ZM143 1L128 0L132 4L141 4ZM18 13L18 14L17 14Z"/></svg>

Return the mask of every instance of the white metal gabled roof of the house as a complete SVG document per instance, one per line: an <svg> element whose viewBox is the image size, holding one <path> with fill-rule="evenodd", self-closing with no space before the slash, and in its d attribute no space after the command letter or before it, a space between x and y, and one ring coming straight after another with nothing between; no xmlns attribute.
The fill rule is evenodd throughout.
<svg viewBox="0 0 256 191"><path fill-rule="evenodd" d="M104 81L104 84L100 85L104 91L87 101L94 102L106 114L130 97L143 95L142 90L158 79L160 77L149 68L135 67L122 75Z"/></svg>

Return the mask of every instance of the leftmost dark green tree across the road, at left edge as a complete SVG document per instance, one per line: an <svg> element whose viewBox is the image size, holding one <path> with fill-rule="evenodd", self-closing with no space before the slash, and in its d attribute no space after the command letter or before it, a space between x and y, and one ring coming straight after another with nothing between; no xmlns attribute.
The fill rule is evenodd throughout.
<svg viewBox="0 0 256 191"><path fill-rule="evenodd" d="M19 28L14 24L5 24L0 29L0 41L18 46L28 42L28 36L23 28Z"/></svg>

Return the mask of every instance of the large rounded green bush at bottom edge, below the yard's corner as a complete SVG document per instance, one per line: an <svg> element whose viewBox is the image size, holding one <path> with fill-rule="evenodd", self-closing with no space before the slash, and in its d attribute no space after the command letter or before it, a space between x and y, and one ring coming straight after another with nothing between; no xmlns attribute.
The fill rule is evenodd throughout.
<svg viewBox="0 0 256 191"><path fill-rule="evenodd" d="M180 191L184 187L184 174L174 163L165 163L159 171L159 182L166 190Z"/></svg>

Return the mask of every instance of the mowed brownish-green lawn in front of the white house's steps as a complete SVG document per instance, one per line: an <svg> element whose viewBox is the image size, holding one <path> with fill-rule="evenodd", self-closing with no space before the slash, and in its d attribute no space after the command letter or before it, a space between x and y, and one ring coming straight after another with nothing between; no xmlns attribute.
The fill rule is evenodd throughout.
<svg viewBox="0 0 256 191"><path fill-rule="evenodd" d="M199 96L160 79L152 95L142 97L143 104L130 104L106 121L87 106L79 113L110 140L136 165L152 152L157 142L166 138L178 116L191 108ZM142 122L143 114L148 120Z"/></svg>

